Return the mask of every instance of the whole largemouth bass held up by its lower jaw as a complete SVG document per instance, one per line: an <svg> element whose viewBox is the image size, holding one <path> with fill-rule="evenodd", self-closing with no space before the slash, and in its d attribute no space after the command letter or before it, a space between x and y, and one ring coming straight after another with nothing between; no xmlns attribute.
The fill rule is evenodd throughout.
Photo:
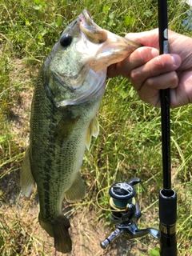
<svg viewBox="0 0 192 256"><path fill-rule="evenodd" d="M107 66L140 46L102 29L83 10L62 32L39 72L20 182L27 197L37 184L38 221L63 254L72 250L72 240L62 202L86 196L80 169L92 136L98 136Z"/></svg>

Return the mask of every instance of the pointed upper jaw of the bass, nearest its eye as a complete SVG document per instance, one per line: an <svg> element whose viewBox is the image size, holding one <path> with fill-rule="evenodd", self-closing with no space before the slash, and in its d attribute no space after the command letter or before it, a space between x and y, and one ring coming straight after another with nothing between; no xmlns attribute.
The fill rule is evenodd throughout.
<svg viewBox="0 0 192 256"><path fill-rule="evenodd" d="M78 24L80 30L82 30L82 32L85 34L86 38L90 42L98 44L106 42L106 30L102 30L100 26L94 23L93 19L90 16L90 13L87 10L83 10L82 14L78 16Z"/></svg>

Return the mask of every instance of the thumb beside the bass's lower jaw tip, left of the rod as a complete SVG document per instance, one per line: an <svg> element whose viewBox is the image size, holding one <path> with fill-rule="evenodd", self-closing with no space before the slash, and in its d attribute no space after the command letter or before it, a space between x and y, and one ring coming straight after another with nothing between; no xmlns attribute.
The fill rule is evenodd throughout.
<svg viewBox="0 0 192 256"><path fill-rule="evenodd" d="M158 49L158 29L126 34L126 38L140 42L143 46L150 46Z"/></svg>

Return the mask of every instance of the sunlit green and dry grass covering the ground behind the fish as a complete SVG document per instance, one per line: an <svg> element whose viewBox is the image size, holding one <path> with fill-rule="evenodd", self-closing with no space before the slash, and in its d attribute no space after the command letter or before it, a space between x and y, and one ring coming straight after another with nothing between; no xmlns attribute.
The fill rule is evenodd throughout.
<svg viewBox="0 0 192 256"><path fill-rule="evenodd" d="M189 7L178 0L168 3L170 29L191 36L192 32L182 27ZM98 0L96 6L91 0L0 2L0 254L3 256L54 255L50 249L53 241L38 230L37 195L34 191L30 200L23 198L18 177L28 145L30 100L38 69L62 30L84 8L99 26L122 36L158 26L157 1L153 0L133 0L126 4L122 0ZM191 110L191 105L171 110L179 255L192 254ZM82 212L85 216L91 214L91 222L99 230L101 226L109 227L110 213L98 208L96 194L114 182L140 177L138 202L143 215L139 225L158 228L158 191L162 188L160 110L139 100L130 82L119 77L108 80L99 121L100 134L93 140L90 151L86 151L82 166L87 197L73 207L66 205L66 213L71 219L78 219L80 226ZM104 190L99 198L105 208L109 208L107 196ZM94 241L97 232L91 234L89 229L90 226L86 230L77 227L83 244ZM110 234L110 230L107 232ZM105 236L101 234L100 241ZM152 255L158 243L146 237L132 245L131 255ZM119 247L118 243L116 246ZM81 251L82 255L94 255L89 250ZM128 249L122 252L126 254Z"/></svg>

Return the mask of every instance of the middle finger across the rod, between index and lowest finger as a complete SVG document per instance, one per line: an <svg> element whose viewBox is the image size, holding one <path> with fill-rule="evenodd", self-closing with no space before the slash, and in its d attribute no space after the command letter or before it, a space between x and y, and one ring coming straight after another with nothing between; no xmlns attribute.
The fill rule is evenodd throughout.
<svg viewBox="0 0 192 256"><path fill-rule="evenodd" d="M182 59L177 54L162 54L151 59L143 66L130 72L130 80L136 90L140 90L147 78L158 77L159 74L177 70Z"/></svg>

